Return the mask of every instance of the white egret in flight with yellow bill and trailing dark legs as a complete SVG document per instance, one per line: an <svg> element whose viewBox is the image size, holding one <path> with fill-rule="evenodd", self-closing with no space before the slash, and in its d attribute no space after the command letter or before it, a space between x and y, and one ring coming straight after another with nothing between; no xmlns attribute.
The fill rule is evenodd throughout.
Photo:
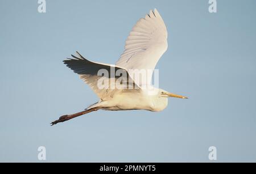
<svg viewBox="0 0 256 174"><path fill-rule="evenodd" d="M168 105L168 97L187 99L151 85L153 70L167 46L166 25L155 9L135 24L115 65L89 61L78 52L76 56L71 55L72 58L63 62L79 74L100 101L82 112L61 116L51 125L98 109L162 111Z"/></svg>

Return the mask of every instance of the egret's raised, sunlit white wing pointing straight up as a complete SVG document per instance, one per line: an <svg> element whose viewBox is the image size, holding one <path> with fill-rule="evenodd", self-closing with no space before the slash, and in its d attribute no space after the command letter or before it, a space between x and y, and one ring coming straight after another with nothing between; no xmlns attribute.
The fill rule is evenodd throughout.
<svg viewBox="0 0 256 174"><path fill-rule="evenodd" d="M150 14L135 24L126 40L125 50L115 65L130 69L154 70L155 65L167 50L167 29L159 12ZM150 75L150 82L152 73ZM131 75L131 77L133 77ZM134 79L135 80L135 79ZM141 82L137 82L140 86Z"/></svg>

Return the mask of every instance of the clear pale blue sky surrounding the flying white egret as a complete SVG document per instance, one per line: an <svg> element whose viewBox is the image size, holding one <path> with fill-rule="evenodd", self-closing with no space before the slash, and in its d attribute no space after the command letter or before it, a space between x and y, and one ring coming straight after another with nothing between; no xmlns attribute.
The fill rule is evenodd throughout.
<svg viewBox="0 0 256 174"><path fill-rule="evenodd" d="M0 1L0 162L256 162L256 1ZM139 18L158 9L162 112L82 111L97 96L64 64L78 50L115 63Z"/></svg>

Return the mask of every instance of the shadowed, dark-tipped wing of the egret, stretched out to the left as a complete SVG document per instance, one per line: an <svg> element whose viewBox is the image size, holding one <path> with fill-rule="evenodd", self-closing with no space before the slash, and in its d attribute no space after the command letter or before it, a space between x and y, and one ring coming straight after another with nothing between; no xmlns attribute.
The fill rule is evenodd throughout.
<svg viewBox="0 0 256 174"><path fill-rule="evenodd" d="M92 88L92 90L98 95L98 97L100 97L101 100L110 99L113 97L115 92L118 92L118 90L140 89L133 82L125 69L119 66L91 62L82 57L78 52L76 53L77 56L71 55L73 58L68 58L68 60L64 60L63 62L75 73L79 74L80 78L84 80L84 82L88 84L90 88ZM102 75L102 73L104 73L104 75ZM102 77L108 81L102 80ZM100 85L104 83L108 83L108 85L102 88ZM120 83L121 86L117 86Z"/></svg>

